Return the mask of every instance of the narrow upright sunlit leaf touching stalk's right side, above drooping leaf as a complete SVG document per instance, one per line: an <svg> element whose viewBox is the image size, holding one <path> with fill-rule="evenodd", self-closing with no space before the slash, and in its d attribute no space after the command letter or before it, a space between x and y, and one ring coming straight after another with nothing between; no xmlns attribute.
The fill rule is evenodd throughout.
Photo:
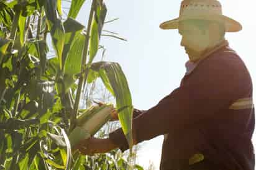
<svg viewBox="0 0 256 170"><path fill-rule="evenodd" d="M99 45L98 24L95 19L93 19L90 35L91 35L91 38L89 39L89 64L92 63L94 56L98 51L98 45Z"/></svg>

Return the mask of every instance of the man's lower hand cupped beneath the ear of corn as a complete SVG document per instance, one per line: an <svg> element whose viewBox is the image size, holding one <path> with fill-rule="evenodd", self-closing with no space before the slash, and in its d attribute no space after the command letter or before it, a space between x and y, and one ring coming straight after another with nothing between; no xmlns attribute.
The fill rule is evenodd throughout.
<svg viewBox="0 0 256 170"><path fill-rule="evenodd" d="M91 137L87 140L81 141L73 148L73 150L79 150L81 154L92 156L95 153L107 153L117 147L118 146L114 145L109 138L99 139Z"/></svg>

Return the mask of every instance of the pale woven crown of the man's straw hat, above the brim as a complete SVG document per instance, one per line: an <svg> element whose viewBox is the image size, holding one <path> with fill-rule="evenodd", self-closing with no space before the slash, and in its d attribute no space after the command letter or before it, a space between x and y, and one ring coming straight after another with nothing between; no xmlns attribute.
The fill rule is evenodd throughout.
<svg viewBox="0 0 256 170"><path fill-rule="evenodd" d="M221 3L216 0L184 0L180 6L180 16L222 15Z"/></svg>

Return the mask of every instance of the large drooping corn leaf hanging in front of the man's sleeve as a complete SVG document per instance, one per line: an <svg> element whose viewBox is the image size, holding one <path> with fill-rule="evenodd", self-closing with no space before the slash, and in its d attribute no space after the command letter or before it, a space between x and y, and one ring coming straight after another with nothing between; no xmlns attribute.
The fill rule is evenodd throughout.
<svg viewBox="0 0 256 170"><path fill-rule="evenodd" d="M91 69L99 71L103 83L107 84L107 89L116 97L116 109L121 122L122 130L126 135L130 148L132 147L132 97L129 86L121 66L118 63L100 61L93 63Z"/></svg>

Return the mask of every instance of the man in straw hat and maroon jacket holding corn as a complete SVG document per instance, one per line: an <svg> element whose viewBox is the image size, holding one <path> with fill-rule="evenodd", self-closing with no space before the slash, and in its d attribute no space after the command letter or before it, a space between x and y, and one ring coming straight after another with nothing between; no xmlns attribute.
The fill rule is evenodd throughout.
<svg viewBox="0 0 256 170"><path fill-rule="evenodd" d="M178 29L190 60L180 87L151 109L134 111L134 144L165 134L161 170L254 169L252 80L224 39L242 26L223 16L216 0L185 0L180 17L160 27ZM78 146L84 154L117 147L129 148L121 129Z"/></svg>

